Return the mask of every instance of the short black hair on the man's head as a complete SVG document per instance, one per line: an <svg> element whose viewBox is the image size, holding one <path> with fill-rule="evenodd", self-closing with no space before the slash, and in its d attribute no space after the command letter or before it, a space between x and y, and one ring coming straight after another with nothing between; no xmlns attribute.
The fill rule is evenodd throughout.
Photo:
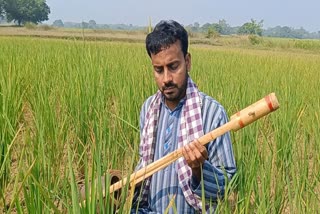
<svg viewBox="0 0 320 214"><path fill-rule="evenodd" d="M188 33L181 24L173 20L162 20L154 30L147 35L146 49L148 55L157 54L161 50L168 48L177 40L180 41L183 55L188 53Z"/></svg>

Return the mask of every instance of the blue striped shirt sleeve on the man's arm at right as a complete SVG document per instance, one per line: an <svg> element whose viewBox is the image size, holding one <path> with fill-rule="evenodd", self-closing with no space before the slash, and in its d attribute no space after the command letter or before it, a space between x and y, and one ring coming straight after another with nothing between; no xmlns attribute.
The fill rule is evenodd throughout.
<svg viewBox="0 0 320 214"><path fill-rule="evenodd" d="M228 121L225 110L221 106L214 112L211 124L207 123L210 130L214 130ZM210 142L207 150L208 160L202 167L204 194L207 199L217 201L218 198L224 196L225 187L236 172L230 133L227 132ZM196 177L192 176L190 186L195 194L199 197L202 196L202 182L198 181Z"/></svg>

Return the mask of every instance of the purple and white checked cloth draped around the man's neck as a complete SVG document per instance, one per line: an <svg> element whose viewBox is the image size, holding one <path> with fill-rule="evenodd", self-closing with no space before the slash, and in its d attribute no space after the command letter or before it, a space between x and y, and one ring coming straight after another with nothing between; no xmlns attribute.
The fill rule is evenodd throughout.
<svg viewBox="0 0 320 214"><path fill-rule="evenodd" d="M188 77L186 90L186 103L181 113L180 130L178 134L179 147L192 142L203 135L203 125L201 118L201 98L196 84ZM141 148L143 151L142 167L150 164L154 157L154 144L156 139L157 122L160 112L161 92L158 91L148 108L144 128L142 130ZM198 195L194 194L190 188L191 169L185 159L179 158L177 163L179 185L183 190L186 201L195 208L201 210L202 202ZM141 201L146 201L150 188L150 178L144 182Z"/></svg>

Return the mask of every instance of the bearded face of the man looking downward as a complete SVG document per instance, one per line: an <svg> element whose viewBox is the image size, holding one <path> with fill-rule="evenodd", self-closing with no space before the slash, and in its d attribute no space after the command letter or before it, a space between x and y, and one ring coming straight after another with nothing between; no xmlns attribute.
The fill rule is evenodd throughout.
<svg viewBox="0 0 320 214"><path fill-rule="evenodd" d="M180 41L157 54L151 54L154 77L167 106L174 109L185 96L191 56L183 55Z"/></svg>

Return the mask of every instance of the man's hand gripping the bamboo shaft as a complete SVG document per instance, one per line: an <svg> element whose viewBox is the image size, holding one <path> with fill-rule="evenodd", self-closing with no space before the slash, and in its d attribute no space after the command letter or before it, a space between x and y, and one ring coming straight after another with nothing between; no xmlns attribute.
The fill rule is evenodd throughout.
<svg viewBox="0 0 320 214"><path fill-rule="evenodd" d="M187 164L192 169L192 175L200 181L202 164L208 159L208 151L206 147L201 145L199 141L195 140L183 147L182 154L186 159Z"/></svg>

